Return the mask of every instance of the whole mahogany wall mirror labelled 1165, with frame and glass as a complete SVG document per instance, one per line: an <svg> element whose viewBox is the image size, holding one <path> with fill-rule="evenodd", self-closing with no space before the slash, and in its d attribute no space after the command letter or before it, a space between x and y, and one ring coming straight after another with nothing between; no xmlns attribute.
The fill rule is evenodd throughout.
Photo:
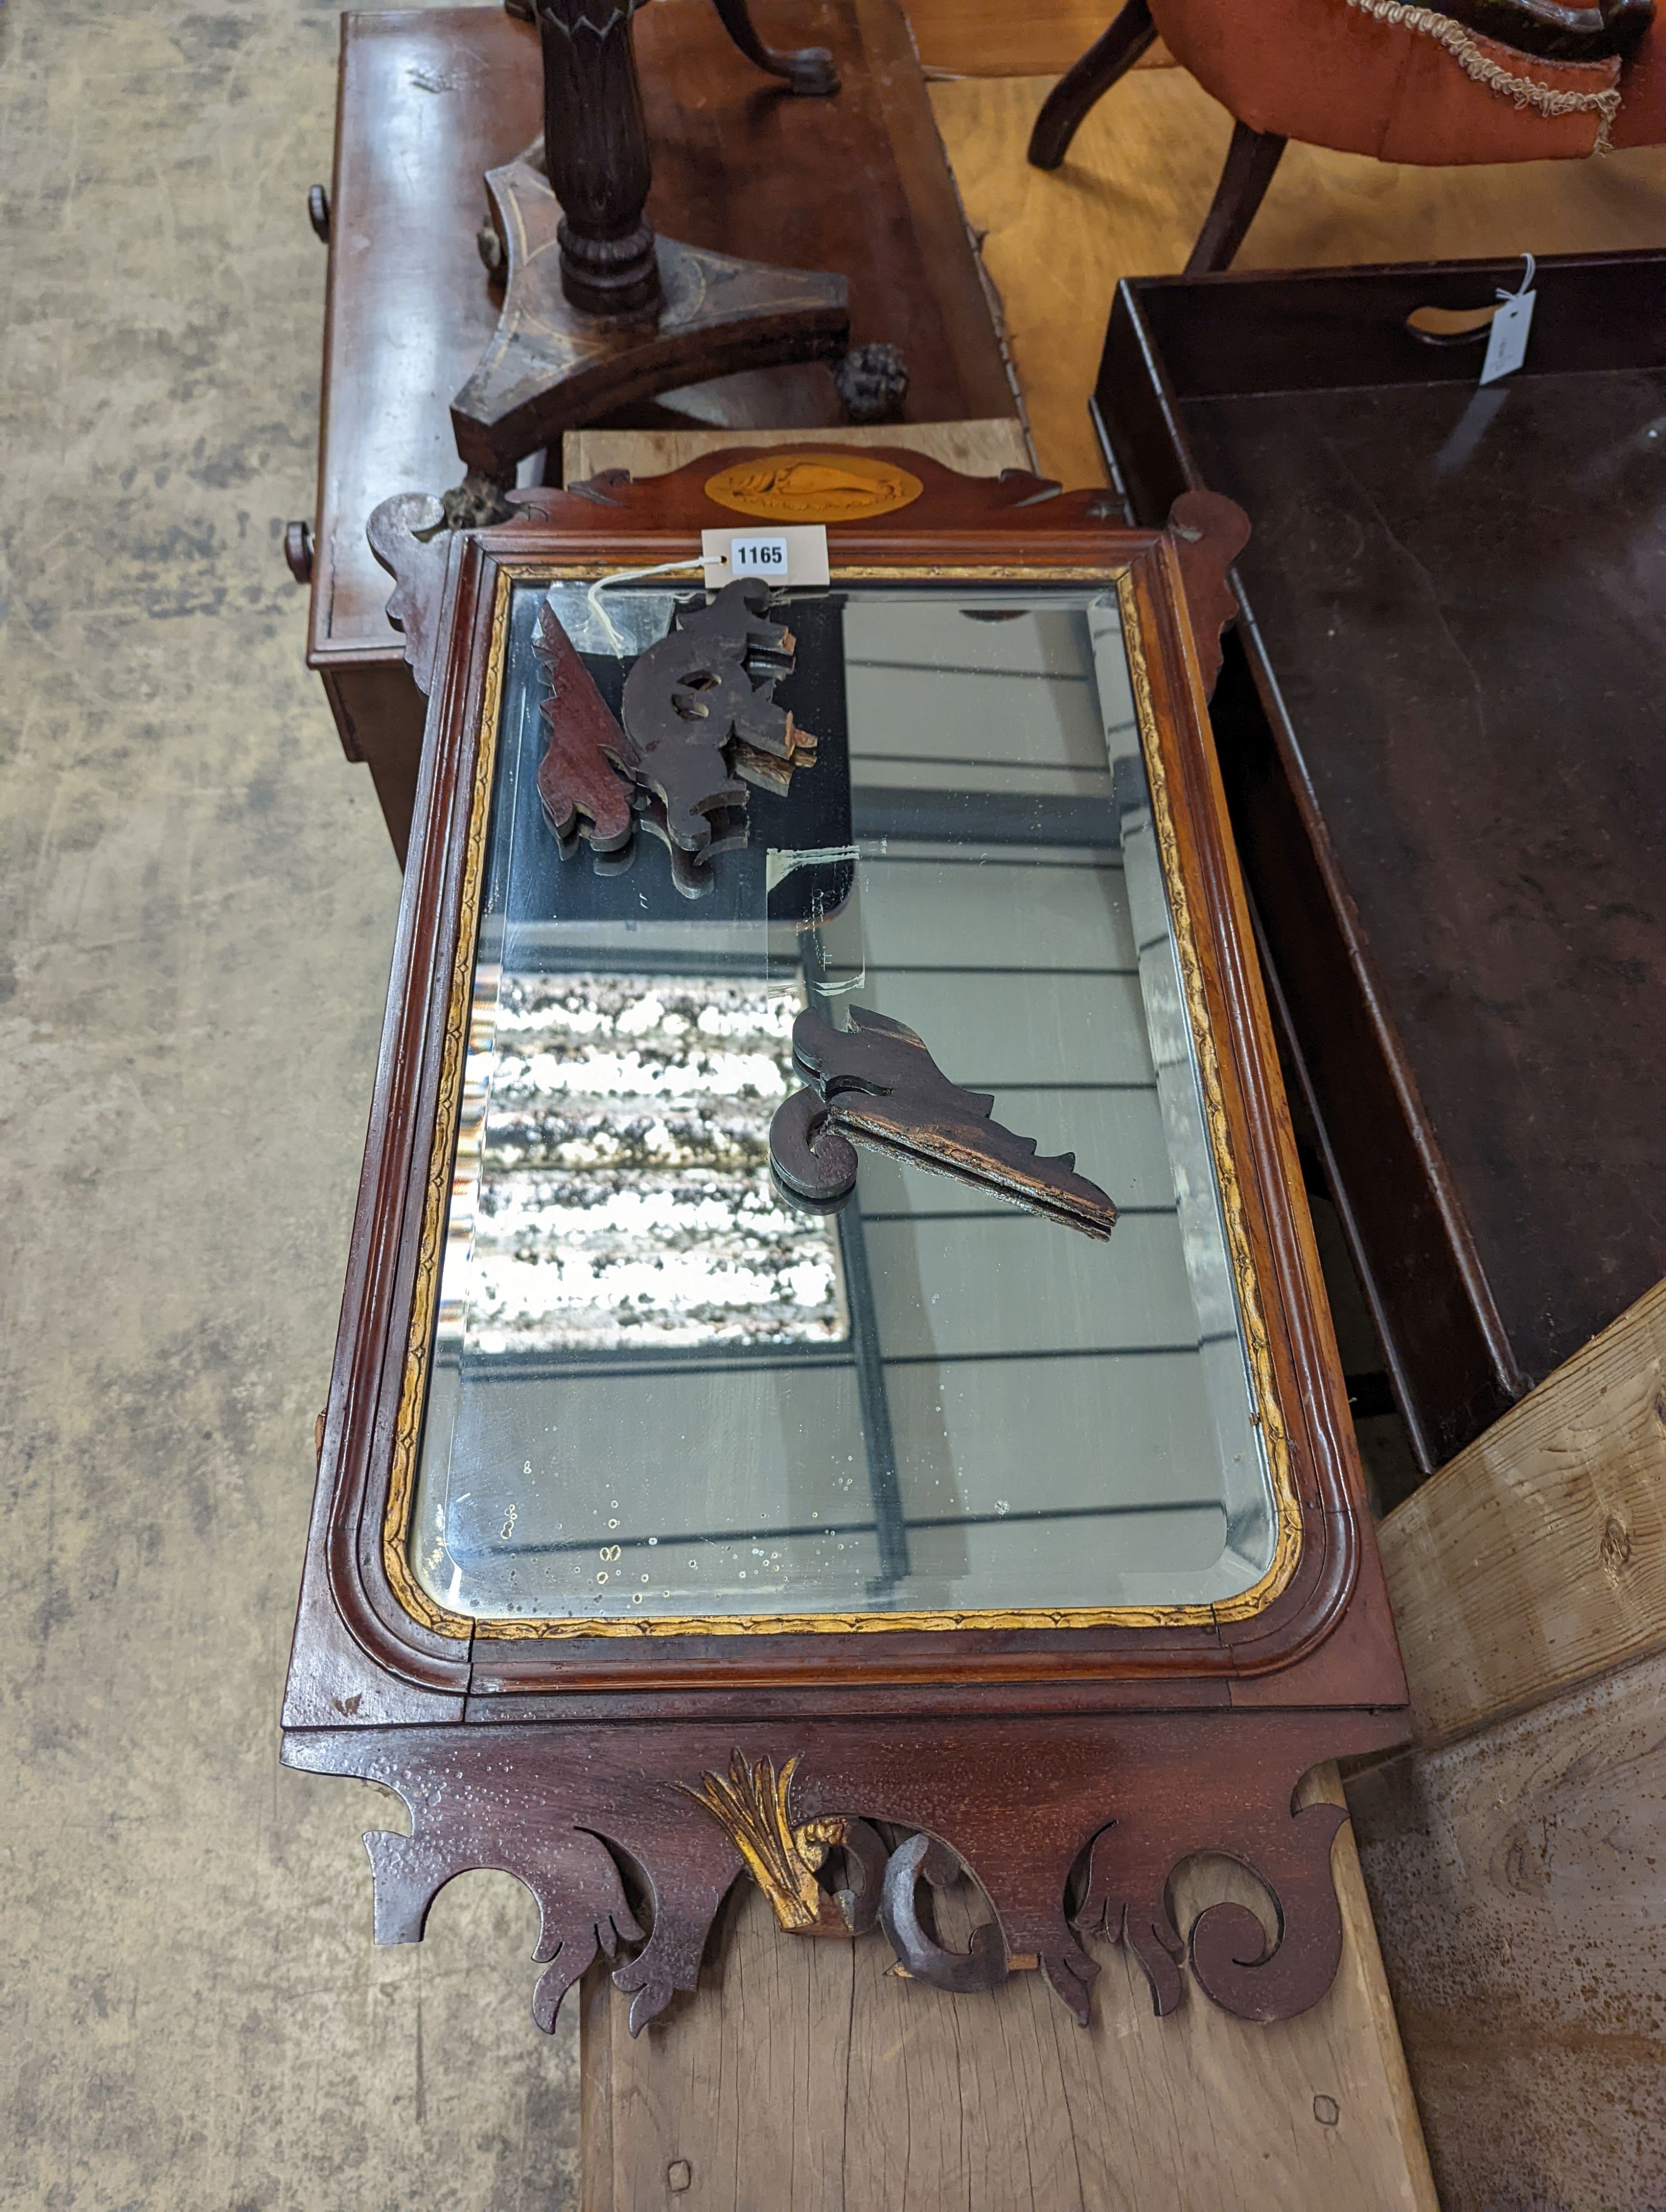
<svg viewBox="0 0 1666 2212"><path fill-rule="evenodd" d="M412 1807L378 1940L533 1889L544 2026L741 1871L1285 2017L1297 1783L1405 1686L1208 737L1241 518L777 460L378 515L431 703L285 1759ZM827 584L622 573L737 484ZM1266 1924L1173 1924L1199 1849Z"/></svg>

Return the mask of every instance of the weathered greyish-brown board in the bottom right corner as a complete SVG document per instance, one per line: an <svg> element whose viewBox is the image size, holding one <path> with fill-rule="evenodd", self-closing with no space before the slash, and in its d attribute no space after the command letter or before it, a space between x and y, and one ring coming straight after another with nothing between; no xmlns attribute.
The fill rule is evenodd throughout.
<svg viewBox="0 0 1666 2212"><path fill-rule="evenodd" d="M1666 1655L1350 1781L1440 2201L1666 2203Z"/></svg>

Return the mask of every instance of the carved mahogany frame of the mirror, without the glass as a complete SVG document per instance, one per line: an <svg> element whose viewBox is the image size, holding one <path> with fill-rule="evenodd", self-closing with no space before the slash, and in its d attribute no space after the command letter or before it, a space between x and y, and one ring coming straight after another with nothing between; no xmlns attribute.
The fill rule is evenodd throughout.
<svg viewBox="0 0 1666 2212"><path fill-rule="evenodd" d="M1128 1940L1166 2011L1186 1953L1166 1880L1197 1849L1226 1849L1263 1876L1281 1940L1261 1960L1252 1916L1217 1907L1190 1931L1195 1975L1235 2011L1283 2017L1323 1993L1339 1942L1327 1854L1341 1814L1292 1814L1292 1792L1316 1761L1387 1747L1407 1730L1208 732L1206 686L1232 613L1226 564L1243 542L1228 502L1190 495L1168 531L1133 531L1111 520L1102 493L1051 495L1013 473L967 480L898 453L889 458L923 480L923 495L892 515L834 522L830 557L834 580L1097 580L1120 591L1181 962L1212 1040L1204 1086L1235 1170L1239 1281L1259 1285L1263 1327L1248 1301L1246 1325L1283 1425L1281 1440L1270 1436L1288 1495L1268 1584L1250 1601L1122 1608L1082 1626L976 1615L885 1621L885 1635L863 1621L670 1635L631 1621L622 1637L595 1624L460 1624L412 1599L398 1555L389 1573L389 1467L412 1418L403 1385L418 1270L438 1263L423 1252L436 1106L467 1020L454 987L485 845L476 768L507 593L524 575L693 557L701 526L732 520L704 493L726 458L644 484L615 471L564 493L518 493L513 522L447 540L400 546L383 524L378 551L398 573L394 606L431 706L285 1761L385 1781L412 1807L409 1838L369 1838L381 1940L416 1940L434 1891L465 1867L507 1867L533 1889L544 2026L597 1951L642 1938L615 1851L637 1863L653 1902L646 1949L615 1975L633 1993L633 2026L693 1986L741 1867L783 1927L825 1933L841 1916L867 1927L878 1909L918 1978L987 1986L1040 1964L1086 2017L1095 1966L1066 1920L1075 1869L1075 1927ZM438 1172L449 1177L445 1157ZM881 1878L874 1820L947 1843L973 1871L998 1931L982 1951L934 1949L918 1902L954 1860L927 1845L898 1849ZM830 1887L839 1867L843 1889Z"/></svg>

